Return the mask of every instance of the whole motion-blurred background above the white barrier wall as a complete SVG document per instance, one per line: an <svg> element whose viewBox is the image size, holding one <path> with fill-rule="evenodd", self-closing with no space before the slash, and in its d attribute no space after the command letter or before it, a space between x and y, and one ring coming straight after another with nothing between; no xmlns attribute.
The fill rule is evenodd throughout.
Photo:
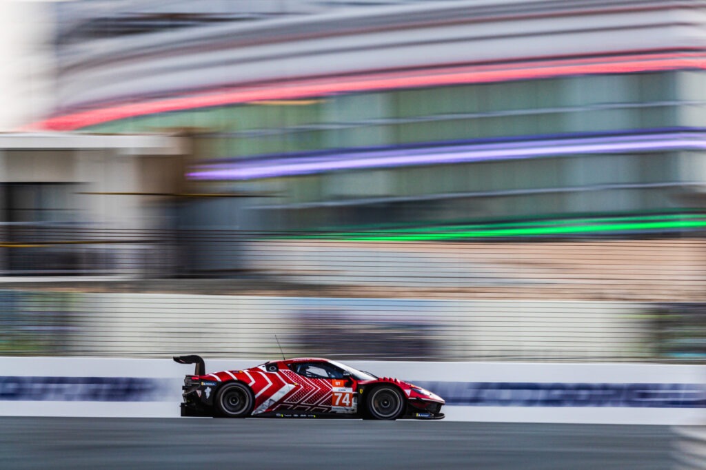
<svg viewBox="0 0 706 470"><path fill-rule="evenodd" d="M0 26L0 354L706 357L703 1Z"/></svg>

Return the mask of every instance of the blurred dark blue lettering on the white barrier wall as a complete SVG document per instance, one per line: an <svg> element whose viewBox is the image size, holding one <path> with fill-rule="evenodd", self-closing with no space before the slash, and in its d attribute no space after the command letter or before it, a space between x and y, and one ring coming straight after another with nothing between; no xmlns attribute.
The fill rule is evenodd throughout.
<svg viewBox="0 0 706 470"><path fill-rule="evenodd" d="M160 402L171 381L131 377L0 377L0 400ZM415 382L446 406L635 406L705 408L698 384Z"/></svg>

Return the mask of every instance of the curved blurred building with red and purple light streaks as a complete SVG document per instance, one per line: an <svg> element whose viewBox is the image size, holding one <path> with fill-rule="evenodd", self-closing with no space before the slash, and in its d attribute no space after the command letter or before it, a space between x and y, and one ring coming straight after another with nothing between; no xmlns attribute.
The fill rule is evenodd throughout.
<svg viewBox="0 0 706 470"><path fill-rule="evenodd" d="M198 191L277 195L183 205L199 224L678 214L706 181L700 1L159 3L58 4L33 127L190 128Z"/></svg>

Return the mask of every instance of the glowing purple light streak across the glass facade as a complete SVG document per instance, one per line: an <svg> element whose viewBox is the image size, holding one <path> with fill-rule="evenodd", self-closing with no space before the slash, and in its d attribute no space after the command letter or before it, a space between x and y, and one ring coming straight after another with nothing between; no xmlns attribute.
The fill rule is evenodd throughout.
<svg viewBox="0 0 706 470"><path fill-rule="evenodd" d="M706 150L706 133L672 132L527 142L427 147L420 149L342 151L315 157L271 157L200 165L189 172L196 180L249 180L316 174L325 171L411 167L431 164L499 161L597 153Z"/></svg>

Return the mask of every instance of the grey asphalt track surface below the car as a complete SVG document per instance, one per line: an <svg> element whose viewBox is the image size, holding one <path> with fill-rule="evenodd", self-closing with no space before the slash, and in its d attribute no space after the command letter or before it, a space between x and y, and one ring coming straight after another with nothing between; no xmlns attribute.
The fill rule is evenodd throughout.
<svg viewBox="0 0 706 470"><path fill-rule="evenodd" d="M0 418L0 469L669 469L666 426Z"/></svg>

